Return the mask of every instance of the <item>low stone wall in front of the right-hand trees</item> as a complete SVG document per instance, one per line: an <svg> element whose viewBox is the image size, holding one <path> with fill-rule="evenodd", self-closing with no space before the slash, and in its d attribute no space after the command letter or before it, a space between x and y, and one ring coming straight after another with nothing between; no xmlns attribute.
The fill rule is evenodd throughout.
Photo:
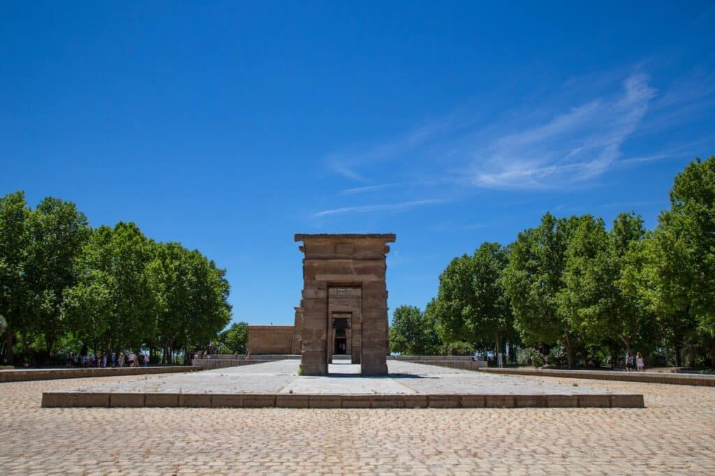
<svg viewBox="0 0 715 476"><path fill-rule="evenodd" d="M621 382L662 383L715 387L715 375L693 375L662 372L616 372L604 370L509 369L485 368L481 372L506 375L536 375L571 379L618 380Z"/></svg>

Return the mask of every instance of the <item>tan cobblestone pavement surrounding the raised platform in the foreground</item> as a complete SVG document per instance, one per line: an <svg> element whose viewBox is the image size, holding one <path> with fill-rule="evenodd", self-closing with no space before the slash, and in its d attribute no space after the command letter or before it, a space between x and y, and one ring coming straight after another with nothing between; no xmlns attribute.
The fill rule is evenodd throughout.
<svg viewBox="0 0 715 476"><path fill-rule="evenodd" d="M40 407L136 378L0 384L0 474L715 474L709 387L518 377L643 393L645 409Z"/></svg>

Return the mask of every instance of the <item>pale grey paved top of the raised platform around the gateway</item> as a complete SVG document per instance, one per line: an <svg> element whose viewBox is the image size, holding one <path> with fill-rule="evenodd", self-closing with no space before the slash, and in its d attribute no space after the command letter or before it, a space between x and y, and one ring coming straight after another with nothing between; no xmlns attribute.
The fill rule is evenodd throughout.
<svg viewBox="0 0 715 476"><path fill-rule="evenodd" d="M202 372L134 377L126 382L106 382L78 392L182 392L182 393L313 393L313 394L501 394L575 395L592 389L573 387L552 379L527 380L512 375L495 375L449 369L412 362L388 362L390 375L361 377L360 365L330 365L330 377L298 377L299 360L228 367ZM606 388L598 393L611 393Z"/></svg>

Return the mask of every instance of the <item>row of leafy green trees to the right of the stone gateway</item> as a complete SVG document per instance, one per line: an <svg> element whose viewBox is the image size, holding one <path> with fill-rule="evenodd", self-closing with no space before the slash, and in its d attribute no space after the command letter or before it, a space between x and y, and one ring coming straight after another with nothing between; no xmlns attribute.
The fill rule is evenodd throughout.
<svg viewBox="0 0 715 476"><path fill-rule="evenodd" d="M570 367L631 352L715 366L715 157L679 173L656 229L622 213L557 218L484 243L440 275L425 312L395 310L405 353L560 346ZM436 336L437 340L427 336Z"/></svg>

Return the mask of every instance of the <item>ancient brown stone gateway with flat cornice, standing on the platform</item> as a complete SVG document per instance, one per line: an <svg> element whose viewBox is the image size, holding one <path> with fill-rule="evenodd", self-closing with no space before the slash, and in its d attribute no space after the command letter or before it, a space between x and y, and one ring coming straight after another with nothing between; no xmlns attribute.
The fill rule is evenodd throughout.
<svg viewBox="0 0 715 476"><path fill-rule="evenodd" d="M296 234L295 241L305 254L294 339L303 375L327 375L335 354L350 354L363 375L387 375L385 254L395 234Z"/></svg>

